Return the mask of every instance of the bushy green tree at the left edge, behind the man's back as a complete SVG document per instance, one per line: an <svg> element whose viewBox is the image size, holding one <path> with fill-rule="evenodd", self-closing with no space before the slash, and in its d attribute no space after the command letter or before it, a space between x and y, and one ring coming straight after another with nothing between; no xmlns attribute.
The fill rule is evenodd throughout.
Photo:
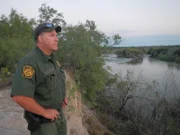
<svg viewBox="0 0 180 135"><path fill-rule="evenodd" d="M9 16L0 17L0 68L7 67L14 71L18 60L33 47L34 22L33 19L28 20L14 9Z"/></svg>

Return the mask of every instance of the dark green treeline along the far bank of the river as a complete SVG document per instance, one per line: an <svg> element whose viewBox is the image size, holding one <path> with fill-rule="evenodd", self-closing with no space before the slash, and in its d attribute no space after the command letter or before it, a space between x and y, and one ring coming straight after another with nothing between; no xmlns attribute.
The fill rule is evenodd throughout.
<svg viewBox="0 0 180 135"><path fill-rule="evenodd" d="M180 63L180 45L174 46L148 46L148 47L111 47L109 53L118 57L142 58L145 54L163 61Z"/></svg>

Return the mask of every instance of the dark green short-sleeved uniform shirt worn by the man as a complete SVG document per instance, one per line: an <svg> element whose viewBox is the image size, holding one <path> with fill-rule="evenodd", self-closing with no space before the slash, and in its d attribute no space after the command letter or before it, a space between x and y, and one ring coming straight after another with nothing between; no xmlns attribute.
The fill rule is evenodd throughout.
<svg viewBox="0 0 180 135"><path fill-rule="evenodd" d="M45 108L58 109L65 98L65 74L54 54L38 47L22 58L13 79L11 96L34 98Z"/></svg>

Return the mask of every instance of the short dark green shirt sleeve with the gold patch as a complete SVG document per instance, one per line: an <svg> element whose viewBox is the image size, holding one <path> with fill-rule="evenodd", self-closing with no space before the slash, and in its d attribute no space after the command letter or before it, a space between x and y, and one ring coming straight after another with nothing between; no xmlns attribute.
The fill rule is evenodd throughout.
<svg viewBox="0 0 180 135"><path fill-rule="evenodd" d="M33 97L35 92L35 66L31 63L20 62L13 77L11 96Z"/></svg>

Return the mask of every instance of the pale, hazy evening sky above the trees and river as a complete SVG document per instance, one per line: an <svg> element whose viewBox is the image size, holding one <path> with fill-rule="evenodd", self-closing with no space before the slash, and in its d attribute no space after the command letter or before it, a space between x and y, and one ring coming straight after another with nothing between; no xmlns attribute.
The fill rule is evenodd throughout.
<svg viewBox="0 0 180 135"><path fill-rule="evenodd" d="M46 5L63 13L68 24L95 21L106 35L119 34L120 46L180 45L180 0L0 0L0 15L11 8L37 18Z"/></svg>

